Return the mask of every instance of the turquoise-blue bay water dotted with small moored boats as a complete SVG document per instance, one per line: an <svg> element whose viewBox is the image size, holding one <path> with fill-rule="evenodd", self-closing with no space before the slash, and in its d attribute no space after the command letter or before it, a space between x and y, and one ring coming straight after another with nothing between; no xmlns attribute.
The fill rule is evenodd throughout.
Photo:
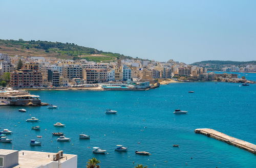
<svg viewBox="0 0 256 168"><path fill-rule="evenodd" d="M212 128L256 144L256 85L184 82L148 91L31 93L59 108L26 107L27 113L19 113L20 107L1 106L0 127L13 131L9 136L13 142L0 143L0 148L12 149L13 145L16 150L63 150L78 155L79 167L85 167L92 157L99 159L102 167L133 167L139 163L148 167L256 167L254 154L194 133L196 128ZM118 114L105 115L106 108L118 110ZM174 115L177 108L188 114ZM30 117L39 118L40 122L25 122ZM53 127L56 122L66 127ZM31 130L36 125L42 129ZM63 131L71 142L56 142L53 131ZM81 133L90 134L91 139L80 140ZM29 145L36 135L43 136L41 147ZM115 152L118 144L129 147L129 151ZM93 154L88 147L100 147L109 154ZM152 155L135 155L136 150Z"/></svg>

